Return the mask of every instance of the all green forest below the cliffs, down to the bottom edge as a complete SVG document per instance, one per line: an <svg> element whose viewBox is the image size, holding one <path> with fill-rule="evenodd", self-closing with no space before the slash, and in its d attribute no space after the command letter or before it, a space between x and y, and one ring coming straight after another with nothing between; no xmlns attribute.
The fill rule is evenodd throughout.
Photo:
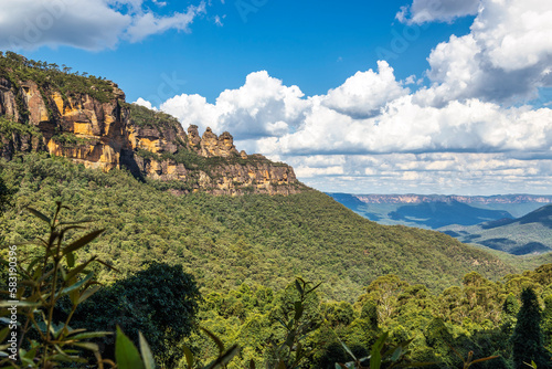
<svg viewBox="0 0 552 369"><path fill-rule="evenodd" d="M53 223L87 221L65 242L94 234L60 259L70 274L79 264L88 274L67 278L77 288L66 287L52 307L53 327L120 328L83 334L86 345L72 355L89 365L97 365L91 348L109 367L120 359L119 336L140 346L141 334L159 368L374 368L378 356L381 368L550 366L550 264L522 271L527 260L505 262L437 232L378 225L315 190L180 196L161 181L39 154L0 169L2 244L47 243L52 229L33 211L52 217L56 202L67 209ZM33 245L18 252L21 265L47 256ZM102 263L88 263L96 256ZM40 341L36 333L28 335L24 352L40 357L28 346Z"/></svg>

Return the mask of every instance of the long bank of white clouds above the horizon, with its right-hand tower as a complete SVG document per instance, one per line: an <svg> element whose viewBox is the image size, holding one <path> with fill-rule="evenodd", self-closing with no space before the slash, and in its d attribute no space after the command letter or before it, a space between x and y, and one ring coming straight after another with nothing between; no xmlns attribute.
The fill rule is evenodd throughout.
<svg viewBox="0 0 552 369"><path fill-rule="evenodd" d="M413 3L412 22L424 3ZM552 85L550 7L537 0L448 6L442 10L449 18L434 20L463 11L477 17L469 34L432 51L431 85L417 91L406 87L414 76L400 81L380 61L322 95L305 96L262 71L214 104L183 94L160 109L184 127L229 130L240 149L286 161L327 191L549 192L552 109L524 102Z"/></svg>

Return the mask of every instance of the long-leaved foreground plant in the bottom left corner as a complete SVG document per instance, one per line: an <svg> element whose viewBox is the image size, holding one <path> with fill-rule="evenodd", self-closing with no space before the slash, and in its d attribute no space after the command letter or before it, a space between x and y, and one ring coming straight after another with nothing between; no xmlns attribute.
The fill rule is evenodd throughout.
<svg viewBox="0 0 552 369"><path fill-rule="evenodd" d="M67 242L66 236L74 230L83 229L81 224L84 222L62 221L61 212L65 209L67 208L57 202L53 215L47 217L28 208L30 213L47 224L49 234L31 243L35 246L34 255L26 263L21 263L23 260L20 259L17 246L10 246L8 257L1 260L10 272L10 291L2 293L6 301L0 302L1 307L10 309L2 308L1 316L13 315L12 306L17 306L17 314L23 320L19 325L17 345L2 345L0 355L3 359L0 365L11 363L17 368L10 355L19 358L25 368L53 368L61 362L86 362L79 354L84 349L93 351L98 367L103 368L104 360L98 346L86 340L109 333L88 333L70 326L78 305L98 289L94 272L87 268L94 262L100 262L92 256L76 263L75 253L96 239L103 230L74 236ZM55 309L62 298L70 301L70 308L67 316L60 320ZM2 339L7 338L9 331L9 326L2 329Z"/></svg>

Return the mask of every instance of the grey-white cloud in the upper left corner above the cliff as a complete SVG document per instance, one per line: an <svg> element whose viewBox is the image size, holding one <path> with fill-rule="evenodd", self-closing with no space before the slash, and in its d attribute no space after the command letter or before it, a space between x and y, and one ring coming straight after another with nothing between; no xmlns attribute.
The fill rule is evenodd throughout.
<svg viewBox="0 0 552 369"><path fill-rule="evenodd" d="M170 29L188 32L194 18L205 12L204 1L164 17L144 10L142 3L144 0L0 0L0 48L113 49L121 40L137 42Z"/></svg>

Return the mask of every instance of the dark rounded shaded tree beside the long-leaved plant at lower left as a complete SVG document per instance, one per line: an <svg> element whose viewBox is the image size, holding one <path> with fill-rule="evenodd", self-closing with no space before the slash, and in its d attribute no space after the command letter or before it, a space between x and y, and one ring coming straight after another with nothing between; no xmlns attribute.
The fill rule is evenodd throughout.
<svg viewBox="0 0 552 369"><path fill-rule="evenodd" d="M84 327L102 330L115 331L119 326L135 342L141 331L157 361L171 367L181 356L178 344L192 331L200 298L193 276L181 266L152 263L99 291L79 307L75 319ZM108 339L104 341L105 355L113 356Z"/></svg>

